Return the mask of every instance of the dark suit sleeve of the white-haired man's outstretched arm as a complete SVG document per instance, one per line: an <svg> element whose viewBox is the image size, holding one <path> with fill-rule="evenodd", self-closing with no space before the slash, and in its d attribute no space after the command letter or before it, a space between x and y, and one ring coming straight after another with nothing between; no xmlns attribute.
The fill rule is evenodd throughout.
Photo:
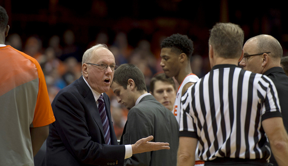
<svg viewBox="0 0 288 166"><path fill-rule="evenodd" d="M101 134L94 136L97 131L88 127L91 117L84 99L80 94L63 92L53 102L56 117L55 126L66 149L79 162L85 164L107 165L124 162L125 147L123 145L102 144ZM91 134L94 134L91 136ZM97 137L97 138L95 138Z"/></svg>

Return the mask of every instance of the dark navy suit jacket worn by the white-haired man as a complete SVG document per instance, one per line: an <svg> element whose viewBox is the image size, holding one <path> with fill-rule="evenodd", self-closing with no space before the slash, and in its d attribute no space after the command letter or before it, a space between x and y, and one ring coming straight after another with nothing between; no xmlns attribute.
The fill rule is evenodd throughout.
<svg viewBox="0 0 288 166"><path fill-rule="evenodd" d="M81 76L62 89L52 103L56 121L49 126L46 165L123 165L125 146L118 145L104 94L111 144L105 144L103 125L92 91Z"/></svg>

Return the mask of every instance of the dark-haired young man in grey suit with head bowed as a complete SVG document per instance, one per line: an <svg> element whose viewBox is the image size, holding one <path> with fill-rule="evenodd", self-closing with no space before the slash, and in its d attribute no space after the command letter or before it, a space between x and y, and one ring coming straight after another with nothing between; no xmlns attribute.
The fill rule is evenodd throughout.
<svg viewBox="0 0 288 166"><path fill-rule="evenodd" d="M115 70L111 88L118 103L129 110L120 144L135 143L149 135L154 136L152 141L170 144L170 150L133 154L124 165L176 165L179 125L172 112L147 93L140 69L122 64Z"/></svg>

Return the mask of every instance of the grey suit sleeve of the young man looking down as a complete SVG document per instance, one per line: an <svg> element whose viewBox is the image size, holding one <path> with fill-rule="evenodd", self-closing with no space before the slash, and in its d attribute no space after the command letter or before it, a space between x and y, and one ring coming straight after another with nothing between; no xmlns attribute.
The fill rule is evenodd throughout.
<svg viewBox="0 0 288 166"><path fill-rule="evenodd" d="M139 109L131 109L128 113L126 129L123 133L123 144L134 144L141 138L152 135L153 125ZM152 140L153 141L153 140ZM124 165L150 165L151 152L133 154L125 159Z"/></svg>

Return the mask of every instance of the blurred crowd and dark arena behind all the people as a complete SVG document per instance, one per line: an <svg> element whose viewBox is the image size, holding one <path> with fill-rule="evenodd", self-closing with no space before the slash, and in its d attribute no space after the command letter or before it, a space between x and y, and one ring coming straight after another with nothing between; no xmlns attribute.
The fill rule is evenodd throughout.
<svg viewBox="0 0 288 166"><path fill-rule="evenodd" d="M148 91L154 74L163 72L159 65L160 43L174 33L187 35L194 42L193 73L202 77L210 71L209 29L217 22L241 26L245 41L259 34L272 35L282 45L283 56L287 56L286 4L247 0L0 0L9 15L6 44L12 43L9 39L14 34L20 36L18 41L20 38L22 44L17 49L40 63L51 102L62 88L81 76L83 52L95 44L101 32L107 34L104 39L108 41L104 44L113 52L116 64L136 64L145 75ZM67 30L73 32L70 37L75 36L70 44L63 37ZM117 43L119 34L124 38ZM60 44L51 50L49 41L53 36L59 37ZM141 43L143 40L146 42ZM176 89L178 86L176 82ZM114 129L120 139L128 110L117 103L112 91L107 94Z"/></svg>

